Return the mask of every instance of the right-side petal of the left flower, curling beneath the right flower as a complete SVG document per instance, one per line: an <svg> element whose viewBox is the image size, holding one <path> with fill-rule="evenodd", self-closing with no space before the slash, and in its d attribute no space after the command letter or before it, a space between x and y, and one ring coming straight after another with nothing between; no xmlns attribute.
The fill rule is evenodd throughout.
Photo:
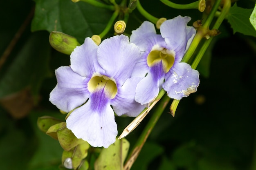
<svg viewBox="0 0 256 170"><path fill-rule="evenodd" d="M134 100L135 88L143 77L132 77L127 79L123 86L118 88L118 93L111 100L113 110L118 116L128 115L136 117L145 108Z"/></svg>

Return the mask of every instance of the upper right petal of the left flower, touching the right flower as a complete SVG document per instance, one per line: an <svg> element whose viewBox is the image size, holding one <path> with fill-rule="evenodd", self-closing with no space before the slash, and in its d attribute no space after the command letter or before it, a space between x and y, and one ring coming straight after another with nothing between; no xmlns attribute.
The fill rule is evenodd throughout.
<svg viewBox="0 0 256 170"><path fill-rule="evenodd" d="M130 43L126 35L105 39L98 49L99 64L106 70L105 75L117 81L117 86L131 76L139 55L139 47Z"/></svg>

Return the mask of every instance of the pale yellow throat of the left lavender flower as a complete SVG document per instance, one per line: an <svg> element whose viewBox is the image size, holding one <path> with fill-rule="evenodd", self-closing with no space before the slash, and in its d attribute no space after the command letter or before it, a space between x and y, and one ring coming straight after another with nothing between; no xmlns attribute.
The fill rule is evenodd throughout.
<svg viewBox="0 0 256 170"><path fill-rule="evenodd" d="M104 92L110 99L113 99L117 94L117 84L115 80L111 80L109 77L94 76L88 82L88 90L92 93L104 88Z"/></svg>

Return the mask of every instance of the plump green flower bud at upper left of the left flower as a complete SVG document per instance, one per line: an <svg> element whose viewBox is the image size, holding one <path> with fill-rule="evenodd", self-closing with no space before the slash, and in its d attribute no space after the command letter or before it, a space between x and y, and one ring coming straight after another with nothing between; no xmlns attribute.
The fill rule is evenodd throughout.
<svg viewBox="0 0 256 170"><path fill-rule="evenodd" d="M80 45L71 35L56 31L50 33L49 42L54 49L67 55L70 55L74 48Z"/></svg>

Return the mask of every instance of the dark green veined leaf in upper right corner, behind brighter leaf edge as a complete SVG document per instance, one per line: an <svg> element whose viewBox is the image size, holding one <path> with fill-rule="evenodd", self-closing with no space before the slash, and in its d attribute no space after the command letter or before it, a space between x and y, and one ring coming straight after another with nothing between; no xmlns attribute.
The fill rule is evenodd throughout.
<svg viewBox="0 0 256 170"><path fill-rule="evenodd" d="M227 20L231 24L234 33L240 32L256 37L256 31L249 21L251 13L252 9L238 7L236 3L229 9Z"/></svg>

